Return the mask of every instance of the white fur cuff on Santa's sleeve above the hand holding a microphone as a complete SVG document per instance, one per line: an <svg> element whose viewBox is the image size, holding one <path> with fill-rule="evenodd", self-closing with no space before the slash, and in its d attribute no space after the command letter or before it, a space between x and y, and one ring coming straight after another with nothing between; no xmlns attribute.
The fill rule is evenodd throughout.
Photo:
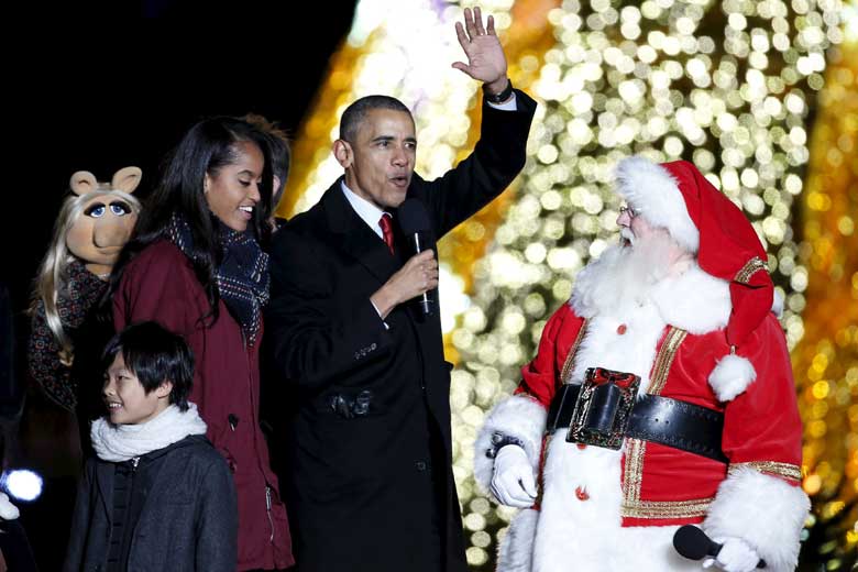
<svg viewBox="0 0 858 572"><path fill-rule="evenodd" d="M768 570L792 571L810 508L800 486L741 468L718 487L703 530L716 541L727 537L745 540L766 560Z"/></svg>

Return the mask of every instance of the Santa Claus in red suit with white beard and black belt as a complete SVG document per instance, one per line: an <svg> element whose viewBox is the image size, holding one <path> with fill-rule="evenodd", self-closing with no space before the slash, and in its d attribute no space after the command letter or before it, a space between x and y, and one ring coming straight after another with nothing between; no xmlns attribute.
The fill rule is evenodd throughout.
<svg viewBox="0 0 858 572"><path fill-rule="evenodd" d="M488 415L475 476L522 510L498 570L793 570L810 507L801 421L766 251L688 162L617 168L620 244L546 324Z"/></svg>

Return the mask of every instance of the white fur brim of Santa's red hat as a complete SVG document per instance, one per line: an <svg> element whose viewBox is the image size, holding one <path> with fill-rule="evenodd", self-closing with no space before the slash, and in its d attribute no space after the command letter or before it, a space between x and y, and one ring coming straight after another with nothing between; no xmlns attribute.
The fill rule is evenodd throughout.
<svg viewBox="0 0 858 572"><path fill-rule="evenodd" d="M668 229L690 252L697 252L700 231L689 216L676 179L664 167L635 155L617 164L617 193L653 227Z"/></svg>

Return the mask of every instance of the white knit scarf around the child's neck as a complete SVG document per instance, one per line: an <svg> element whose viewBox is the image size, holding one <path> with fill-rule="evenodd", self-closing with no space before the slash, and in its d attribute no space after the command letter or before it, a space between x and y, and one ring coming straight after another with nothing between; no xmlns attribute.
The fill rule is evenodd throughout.
<svg viewBox="0 0 858 572"><path fill-rule="evenodd" d="M98 458L112 462L164 449L189 435L206 435L206 422L195 404L188 404L188 410L184 413L170 405L154 419L140 425L113 425L102 417L92 421L90 430Z"/></svg>

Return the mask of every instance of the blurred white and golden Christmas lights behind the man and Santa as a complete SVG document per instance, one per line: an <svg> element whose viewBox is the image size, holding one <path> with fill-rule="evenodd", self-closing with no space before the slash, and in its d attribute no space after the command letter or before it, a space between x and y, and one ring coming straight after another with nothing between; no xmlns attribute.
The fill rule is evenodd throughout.
<svg viewBox="0 0 858 572"><path fill-rule="evenodd" d="M339 176L328 151L337 118L370 92L398 97L415 111L424 176L442 174L468 153L479 134L477 86L448 66L460 58L452 22L471 4L359 4L297 138L282 213L305 210ZM814 530L825 528L820 522L848 513L858 494L858 274L855 255L846 254L856 252L858 56L844 43L851 8L837 0L481 7L495 15L510 77L540 107L517 184L439 245L447 355L457 363L454 475L469 563L492 569L515 513L476 490L476 430L515 388L518 367L534 355L544 320L569 298L576 272L617 239L613 168L635 153L693 162L744 210L768 250L806 426L811 543ZM828 54L839 54L839 63L826 72ZM827 112L817 110L817 98ZM835 318L839 326L832 328ZM847 532L813 558L842 562L837 554L854 550L858 536Z"/></svg>

